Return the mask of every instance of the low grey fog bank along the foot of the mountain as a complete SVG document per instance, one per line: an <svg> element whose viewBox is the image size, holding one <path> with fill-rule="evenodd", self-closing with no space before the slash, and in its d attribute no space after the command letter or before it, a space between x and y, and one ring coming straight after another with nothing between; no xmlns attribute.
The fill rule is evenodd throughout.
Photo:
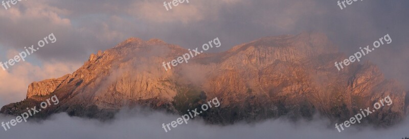
<svg viewBox="0 0 409 139"><path fill-rule="evenodd" d="M125 112L126 111L126 112ZM165 132L162 123L170 123L180 116L149 110L122 110L109 122L56 114L41 122L17 123L5 131L0 127L0 138L388 138L409 136L409 120L388 129L352 125L342 132L329 121L315 118L313 121L290 122L287 119L266 120L255 124L238 123L230 126L205 124L200 119L188 124L171 127ZM1 116L0 122L15 117Z"/></svg>

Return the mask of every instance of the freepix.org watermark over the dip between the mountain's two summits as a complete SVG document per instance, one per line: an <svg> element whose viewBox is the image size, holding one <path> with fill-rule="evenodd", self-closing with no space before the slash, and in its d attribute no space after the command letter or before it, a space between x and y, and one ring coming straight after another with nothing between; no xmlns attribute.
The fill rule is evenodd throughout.
<svg viewBox="0 0 409 139"><path fill-rule="evenodd" d="M210 48L213 48L213 45L212 45L212 44L215 45L216 48L221 46L221 42L220 42L219 38L217 37L217 38L215 38L214 40L209 41L209 44L207 44L207 43L203 44L203 45L202 45L202 49L205 50L205 51L207 51L207 50L209 50ZM178 57L177 59L172 60L172 61L170 61L170 62L168 62L168 63L163 62L163 63L162 63L162 66L165 68L166 71L168 71L168 69L172 69L172 67L170 67L170 65L172 65L173 67L175 67L175 66L177 66L178 63L181 64L181 63L183 63L184 61L185 61L186 63L188 63L188 60L189 60L190 58L193 58L193 57L195 57L196 55L198 55L198 54L200 54L200 53L203 52L203 50L200 50L200 52L199 52L199 50L197 50L197 49L198 49L197 47L196 47L196 49L193 49L193 50L190 50L190 49L189 49L189 53L185 53L185 54L183 54L182 56ZM193 51L195 54L193 54L192 51Z"/></svg>

